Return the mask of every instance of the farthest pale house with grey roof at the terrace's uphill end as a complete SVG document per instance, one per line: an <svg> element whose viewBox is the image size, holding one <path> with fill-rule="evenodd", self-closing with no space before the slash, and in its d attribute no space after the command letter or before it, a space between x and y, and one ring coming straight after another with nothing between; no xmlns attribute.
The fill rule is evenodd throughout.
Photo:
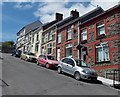
<svg viewBox="0 0 120 97"><path fill-rule="evenodd" d="M31 50L31 39L32 33L40 28L43 24L38 20L31 24L24 26L18 33L17 33L17 42L16 47L21 51L30 51Z"/></svg>

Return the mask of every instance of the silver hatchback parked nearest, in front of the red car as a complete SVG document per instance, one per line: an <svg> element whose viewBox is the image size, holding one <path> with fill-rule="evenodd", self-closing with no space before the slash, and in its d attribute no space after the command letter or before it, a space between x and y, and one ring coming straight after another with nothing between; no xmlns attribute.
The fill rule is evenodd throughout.
<svg viewBox="0 0 120 97"><path fill-rule="evenodd" d="M73 75L76 80L97 80L97 73L90 68L84 61L74 58L63 58L58 64L58 73L68 73Z"/></svg>

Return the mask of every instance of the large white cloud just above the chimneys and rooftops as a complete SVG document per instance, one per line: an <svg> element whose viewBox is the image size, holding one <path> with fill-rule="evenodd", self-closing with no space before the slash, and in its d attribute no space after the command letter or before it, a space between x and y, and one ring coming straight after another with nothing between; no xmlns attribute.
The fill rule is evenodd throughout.
<svg viewBox="0 0 120 97"><path fill-rule="evenodd" d="M55 0L51 0L51 1L55 1ZM87 6L85 6L85 2L81 0L82 2L73 3L71 4L71 6L67 7L67 5L69 5L68 1L71 2L72 0L67 0L66 2L44 2L43 4L40 3L40 6L38 7L37 11L34 12L34 15L35 17L39 17L43 23L46 23L46 22L50 22L55 19L56 12L63 13L64 18L66 18L70 16L71 10L77 9L81 16L95 9L97 5L101 6L104 10L107 10L118 4L117 0L109 0L108 2L107 1L105 2L105 0L101 0L101 1L86 0L89 2L87 3Z"/></svg>

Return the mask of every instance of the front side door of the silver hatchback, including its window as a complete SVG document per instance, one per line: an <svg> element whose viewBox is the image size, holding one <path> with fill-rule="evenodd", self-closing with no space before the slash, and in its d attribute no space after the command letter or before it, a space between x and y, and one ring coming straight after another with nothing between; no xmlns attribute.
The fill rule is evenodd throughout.
<svg viewBox="0 0 120 97"><path fill-rule="evenodd" d="M75 63L72 59L68 59L67 61L67 71L69 74L73 75L75 71Z"/></svg>

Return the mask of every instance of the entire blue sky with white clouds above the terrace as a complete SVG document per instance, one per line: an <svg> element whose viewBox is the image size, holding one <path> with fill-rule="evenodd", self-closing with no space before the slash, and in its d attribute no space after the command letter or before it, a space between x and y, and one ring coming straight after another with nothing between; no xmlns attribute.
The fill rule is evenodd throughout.
<svg viewBox="0 0 120 97"><path fill-rule="evenodd" d="M55 13L69 17L77 9L80 16L101 6L107 10L119 0L3 0L0 1L0 41L16 41L16 33L27 24L40 20L47 23Z"/></svg>

